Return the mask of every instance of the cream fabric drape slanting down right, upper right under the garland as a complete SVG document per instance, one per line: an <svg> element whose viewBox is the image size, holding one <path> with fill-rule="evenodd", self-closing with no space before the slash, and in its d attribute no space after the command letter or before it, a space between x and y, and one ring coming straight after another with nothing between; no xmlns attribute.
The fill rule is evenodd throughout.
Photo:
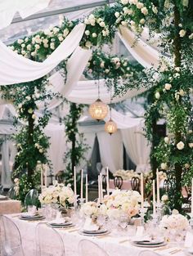
<svg viewBox="0 0 193 256"><path fill-rule="evenodd" d="M159 66L159 51L145 43L141 38L136 40L136 35L126 27L119 27L119 38L123 41L128 52L145 68L152 66L157 69Z"/></svg>

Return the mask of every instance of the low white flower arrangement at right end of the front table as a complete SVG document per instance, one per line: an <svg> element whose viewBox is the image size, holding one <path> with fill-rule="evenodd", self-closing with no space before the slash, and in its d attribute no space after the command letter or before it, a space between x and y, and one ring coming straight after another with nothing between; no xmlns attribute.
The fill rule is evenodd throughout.
<svg viewBox="0 0 193 256"><path fill-rule="evenodd" d="M173 213L170 216L165 215L162 218L160 227L168 230L185 231L189 227L189 222L182 214Z"/></svg>

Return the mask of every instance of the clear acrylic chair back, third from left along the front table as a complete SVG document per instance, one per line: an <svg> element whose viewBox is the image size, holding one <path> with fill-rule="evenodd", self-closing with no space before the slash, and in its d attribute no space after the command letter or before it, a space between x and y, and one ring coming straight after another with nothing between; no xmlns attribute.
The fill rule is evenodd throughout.
<svg viewBox="0 0 193 256"><path fill-rule="evenodd" d="M109 256L104 249L90 240L79 241L79 256Z"/></svg>

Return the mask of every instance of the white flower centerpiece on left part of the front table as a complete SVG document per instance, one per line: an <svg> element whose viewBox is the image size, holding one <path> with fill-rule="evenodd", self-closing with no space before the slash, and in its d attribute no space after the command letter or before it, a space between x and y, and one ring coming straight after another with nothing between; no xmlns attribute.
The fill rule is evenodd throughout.
<svg viewBox="0 0 193 256"><path fill-rule="evenodd" d="M74 204L74 191L70 186L56 182L55 185L44 188L38 199L41 204L60 204L68 208Z"/></svg>

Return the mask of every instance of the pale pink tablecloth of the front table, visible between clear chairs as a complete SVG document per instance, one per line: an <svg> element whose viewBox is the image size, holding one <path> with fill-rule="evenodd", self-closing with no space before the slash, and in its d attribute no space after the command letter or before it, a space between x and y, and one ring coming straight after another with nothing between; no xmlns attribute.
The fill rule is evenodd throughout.
<svg viewBox="0 0 193 256"><path fill-rule="evenodd" d="M29 222L25 220L20 220L18 215L9 214L7 215L13 222L16 223L16 226L20 230L23 247L25 250L25 255L34 256L35 255L35 228L38 225L38 222ZM43 221L42 221L43 222ZM105 252L110 256L137 256L142 249L136 246L131 245L128 240L128 236L102 236L101 238L92 237L92 236L83 236L79 234L79 231L74 231L73 229L57 229L61 234L62 239L65 244L65 256L78 256L78 246L79 241L83 239L92 240L101 248L105 249ZM45 236L47 236L45 232ZM49 239L49 238L47 238ZM127 241L125 241L127 240ZM146 248L145 248L146 249ZM171 250L170 248L170 251ZM54 247L53 247L54 252ZM51 252L50 252L51 253ZM160 255L171 255L166 252L163 253L162 250L157 250L156 253ZM53 254L55 255L55 254ZM177 252L174 256L184 256L182 251Z"/></svg>

